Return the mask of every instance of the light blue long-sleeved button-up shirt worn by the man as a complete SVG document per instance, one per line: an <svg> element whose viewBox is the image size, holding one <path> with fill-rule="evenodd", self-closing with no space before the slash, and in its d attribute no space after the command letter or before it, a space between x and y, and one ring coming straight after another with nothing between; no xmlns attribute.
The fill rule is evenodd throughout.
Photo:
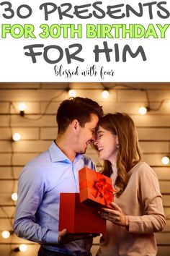
<svg viewBox="0 0 170 256"><path fill-rule="evenodd" d="M19 237L71 255L89 252L91 239L58 244L60 193L79 192L79 170L84 166L94 169L94 163L85 155L77 154L72 163L55 142L24 166L14 221Z"/></svg>

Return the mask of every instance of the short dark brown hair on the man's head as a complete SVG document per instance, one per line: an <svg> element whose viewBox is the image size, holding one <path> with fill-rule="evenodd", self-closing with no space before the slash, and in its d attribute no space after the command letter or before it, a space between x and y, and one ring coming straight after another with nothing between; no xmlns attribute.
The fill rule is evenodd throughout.
<svg viewBox="0 0 170 256"><path fill-rule="evenodd" d="M103 116L102 106L89 98L69 98L63 101L58 108L56 120L58 123L58 134L66 132L68 125L74 119L79 121L81 127L88 121L91 121L91 114L99 118Z"/></svg>

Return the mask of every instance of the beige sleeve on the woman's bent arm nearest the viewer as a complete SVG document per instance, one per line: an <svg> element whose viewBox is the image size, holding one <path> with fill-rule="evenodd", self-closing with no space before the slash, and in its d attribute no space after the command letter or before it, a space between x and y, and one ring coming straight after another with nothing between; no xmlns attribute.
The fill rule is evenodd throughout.
<svg viewBox="0 0 170 256"><path fill-rule="evenodd" d="M147 164L138 171L138 200L143 208L143 215L128 216L129 231L144 234L164 229L166 218L158 178Z"/></svg>

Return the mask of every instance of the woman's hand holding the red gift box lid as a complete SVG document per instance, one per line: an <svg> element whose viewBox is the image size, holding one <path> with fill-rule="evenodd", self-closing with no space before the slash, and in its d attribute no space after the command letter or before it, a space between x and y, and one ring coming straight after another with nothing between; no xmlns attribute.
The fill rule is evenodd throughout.
<svg viewBox="0 0 170 256"><path fill-rule="evenodd" d="M125 214L122 213L122 209L115 202L111 202L110 205L113 209L102 208L99 211L99 216L101 218L105 218L108 221L112 221L112 223L115 223L116 225L128 227L128 216L125 216Z"/></svg>

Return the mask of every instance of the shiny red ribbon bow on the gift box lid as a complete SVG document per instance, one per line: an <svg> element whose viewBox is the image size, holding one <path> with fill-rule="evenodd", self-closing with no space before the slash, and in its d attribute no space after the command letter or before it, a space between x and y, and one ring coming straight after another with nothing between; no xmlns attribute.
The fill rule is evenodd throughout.
<svg viewBox="0 0 170 256"><path fill-rule="evenodd" d="M102 178L99 181L94 182L94 189L95 192L92 192L94 197L101 197L104 198L105 205L109 205L110 202L113 201L113 192L114 189L112 185L108 184L106 179Z"/></svg>

